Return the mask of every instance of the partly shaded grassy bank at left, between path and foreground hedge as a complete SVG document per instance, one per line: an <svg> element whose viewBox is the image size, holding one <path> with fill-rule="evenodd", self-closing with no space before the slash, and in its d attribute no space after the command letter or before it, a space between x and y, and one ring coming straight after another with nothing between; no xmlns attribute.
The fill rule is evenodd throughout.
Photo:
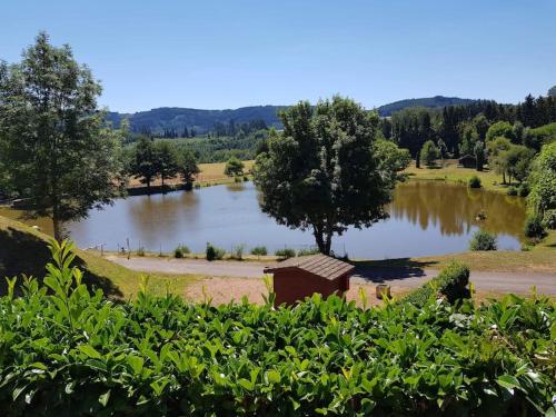
<svg viewBox="0 0 556 417"><path fill-rule="evenodd" d="M0 216L0 277L21 274L42 277L44 265L50 260L49 239L31 227ZM90 251L77 249L76 252L76 264L86 271L88 284L102 288L113 299L135 298L143 277L148 277L148 288L152 294L171 291L182 296L189 285L202 278L198 275L137 272ZM2 279L0 294L4 285Z"/></svg>

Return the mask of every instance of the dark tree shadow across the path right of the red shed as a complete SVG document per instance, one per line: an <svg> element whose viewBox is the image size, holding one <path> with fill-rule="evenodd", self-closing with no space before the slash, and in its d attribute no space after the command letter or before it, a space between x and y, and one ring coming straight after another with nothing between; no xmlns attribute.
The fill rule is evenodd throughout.
<svg viewBox="0 0 556 417"><path fill-rule="evenodd" d="M433 268L437 261L419 261L410 258L351 261L355 274L371 282L386 282L415 277L425 277L426 268Z"/></svg>

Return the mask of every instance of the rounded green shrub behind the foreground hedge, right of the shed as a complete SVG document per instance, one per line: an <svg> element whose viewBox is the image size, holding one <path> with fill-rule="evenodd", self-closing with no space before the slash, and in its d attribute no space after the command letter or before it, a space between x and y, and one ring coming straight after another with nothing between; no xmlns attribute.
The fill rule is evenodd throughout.
<svg viewBox="0 0 556 417"><path fill-rule="evenodd" d="M469 297L468 284L469 268L461 262L453 261L437 277L410 292L404 301L423 306L435 295L445 297L448 302L454 304L456 300Z"/></svg>

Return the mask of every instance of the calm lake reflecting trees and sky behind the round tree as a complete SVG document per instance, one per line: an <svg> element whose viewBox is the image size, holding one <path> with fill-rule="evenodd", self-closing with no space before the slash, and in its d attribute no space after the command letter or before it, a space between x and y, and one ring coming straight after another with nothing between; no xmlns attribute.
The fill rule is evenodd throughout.
<svg viewBox="0 0 556 417"><path fill-rule="evenodd" d="M262 214L259 198L251 182L135 196L92 210L88 219L68 224L67 229L81 248L106 244L105 248L117 249L127 239L132 250L166 252L179 244L192 251L203 251L207 242L227 251L237 245L264 245L269 252L315 245L310 231L279 226ZM479 211L486 214L485 221L476 219ZM498 249L518 250L525 207L518 197L441 181L408 181L396 188L389 214L389 219L370 228L335 236L334 251L375 259L465 251L479 226L498 235ZM48 222L31 224L49 231Z"/></svg>

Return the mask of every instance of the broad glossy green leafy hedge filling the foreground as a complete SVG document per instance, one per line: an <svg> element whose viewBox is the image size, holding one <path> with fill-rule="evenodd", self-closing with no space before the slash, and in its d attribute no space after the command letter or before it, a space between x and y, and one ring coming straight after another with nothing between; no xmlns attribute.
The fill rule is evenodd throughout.
<svg viewBox="0 0 556 417"><path fill-rule="evenodd" d="M554 413L554 302L430 298L363 310L178 297L115 305L54 248L44 286L0 299L0 413L535 415ZM48 290L47 290L48 289Z"/></svg>

